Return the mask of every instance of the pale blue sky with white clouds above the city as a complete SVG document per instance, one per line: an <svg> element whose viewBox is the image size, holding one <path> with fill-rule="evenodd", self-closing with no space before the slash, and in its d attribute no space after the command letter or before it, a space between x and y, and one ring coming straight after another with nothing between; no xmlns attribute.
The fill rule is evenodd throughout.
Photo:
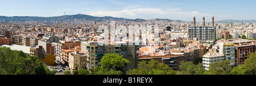
<svg viewBox="0 0 256 86"><path fill-rule="evenodd" d="M209 22L256 20L255 0L0 0L0 16L86 14L127 19L171 19Z"/></svg>

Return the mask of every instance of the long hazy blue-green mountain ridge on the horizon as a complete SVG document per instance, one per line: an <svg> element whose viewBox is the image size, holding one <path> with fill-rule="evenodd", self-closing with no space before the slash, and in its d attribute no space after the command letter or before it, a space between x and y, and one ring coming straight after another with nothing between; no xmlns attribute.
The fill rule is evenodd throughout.
<svg viewBox="0 0 256 86"><path fill-rule="evenodd" d="M127 20L127 21L145 21L146 19L126 19L126 18L114 18L112 16L91 16L86 14L75 14L75 15L61 15L61 16L0 16L0 21L70 21L70 20L89 20L89 21L105 21L105 20ZM151 20L151 19L148 19ZM155 19L165 21L181 21L181 20L170 20L170 19Z"/></svg>

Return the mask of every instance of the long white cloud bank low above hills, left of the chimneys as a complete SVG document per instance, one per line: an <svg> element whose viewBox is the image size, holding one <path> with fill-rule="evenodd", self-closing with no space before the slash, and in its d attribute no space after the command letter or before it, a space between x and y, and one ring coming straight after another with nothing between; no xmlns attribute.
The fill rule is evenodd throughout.
<svg viewBox="0 0 256 86"><path fill-rule="evenodd" d="M183 12L181 8L168 8L168 9L159 9L159 8L134 8L130 10L121 10L121 11L97 11L90 12L89 15L92 16L113 16L117 18L128 18L128 19L174 19L174 20L185 20L192 21L193 16L203 18L209 17L210 14L204 14L198 11ZM207 21L207 20L205 20Z"/></svg>

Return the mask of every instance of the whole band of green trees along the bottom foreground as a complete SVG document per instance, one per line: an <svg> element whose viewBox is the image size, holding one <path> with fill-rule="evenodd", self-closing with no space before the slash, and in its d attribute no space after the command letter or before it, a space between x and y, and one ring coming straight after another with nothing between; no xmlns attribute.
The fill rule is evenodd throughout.
<svg viewBox="0 0 256 86"><path fill-rule="evenodd" d="M96 75L122 75L127 65L131 62L118 54L104 54L101 65L96 67ZM138 68L127 70L127 75L255 75L256 53L250 53L243 65L230 67L229 61L215 62L209 66L209 71L203 69L203 64L195 65L193 62L181 62L179 71L172 70L164 63L152 59L150 62L142 61ZM73 75L89 75L88 70L78 70L78 65L73 69ZM55 75L56 70L50 71L36 56L27 56L22 51L0 48L0 75ZM71 75L71 71L64 71Z"/></svg>

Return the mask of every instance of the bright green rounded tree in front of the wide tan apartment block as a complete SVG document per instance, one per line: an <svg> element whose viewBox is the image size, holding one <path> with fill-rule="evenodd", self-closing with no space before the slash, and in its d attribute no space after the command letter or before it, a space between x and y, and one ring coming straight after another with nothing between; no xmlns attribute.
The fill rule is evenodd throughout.
<svg viewBox="0 0 256 86"><path fill-rule="evenodd" d="M123 58L123 55L106 53L101 59L100 66L94 68L93 74L106 74L105 72L120 74L130 63L128 59Z"/></svg>

